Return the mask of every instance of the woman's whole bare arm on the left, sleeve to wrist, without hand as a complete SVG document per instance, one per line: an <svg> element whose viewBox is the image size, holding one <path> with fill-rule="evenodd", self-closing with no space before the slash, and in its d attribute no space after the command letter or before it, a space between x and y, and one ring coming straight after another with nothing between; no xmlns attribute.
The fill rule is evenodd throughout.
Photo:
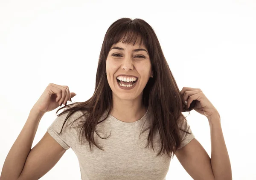
<svg viewBox="0 0 256 180"><path fill-rule="evenodd" d="M6 157L0 180L39 179L52 169L66 151L48 132L31 149L43 115L33 110L30 111L23 129Z"/></svg>

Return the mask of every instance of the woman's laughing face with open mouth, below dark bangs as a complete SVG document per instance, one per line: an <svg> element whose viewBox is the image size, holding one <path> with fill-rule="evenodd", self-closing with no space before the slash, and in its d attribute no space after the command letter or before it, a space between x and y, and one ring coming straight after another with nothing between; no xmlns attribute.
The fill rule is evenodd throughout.
<svg viewBox="0 0 256 180"><path fill-rule="evenodd" d="M113 95L123 100L137 98L143 94L148 79L153 75L148 50L143 45L139 46L138 43L134 46L122 42L113 44L106 60L106 72ZM135 83L124 82L134 80L136 80ZM121 83L121 86L119 83Z"/></svg>

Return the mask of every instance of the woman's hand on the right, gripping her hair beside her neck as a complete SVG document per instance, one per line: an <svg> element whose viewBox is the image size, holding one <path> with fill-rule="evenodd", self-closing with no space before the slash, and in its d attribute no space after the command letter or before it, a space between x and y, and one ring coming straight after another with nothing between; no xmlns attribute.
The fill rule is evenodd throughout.
<svg viewBox="0 0 256 180"><path fill-rule="evenodd" d="M195 111L205 115L208 119L211 119L213 116L220 116L217 109L212 105L212 103L207 99L201 89L183 87L180 91L180 94L183 97L183 100L186 101L186 105L189 108L193 100L196 100ZM204 107L205 106L205 107ZM204 111L198 109L203 108ZM198 110L197 110L198 109Z"/></svg>

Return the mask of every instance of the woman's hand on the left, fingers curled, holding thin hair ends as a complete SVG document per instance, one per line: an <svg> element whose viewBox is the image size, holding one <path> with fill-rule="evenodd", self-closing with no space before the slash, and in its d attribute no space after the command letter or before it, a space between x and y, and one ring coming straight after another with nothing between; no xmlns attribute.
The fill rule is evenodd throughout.
<svg viewBox="0 0 256 180"><path fill-rule="evenodd" d="M71 98L75 95L76 93L74 92L70 93L68 86L49 83L32 109L33 111L46 113L56 109L61 104L67 105L67 101L71 101Z"/></svg>

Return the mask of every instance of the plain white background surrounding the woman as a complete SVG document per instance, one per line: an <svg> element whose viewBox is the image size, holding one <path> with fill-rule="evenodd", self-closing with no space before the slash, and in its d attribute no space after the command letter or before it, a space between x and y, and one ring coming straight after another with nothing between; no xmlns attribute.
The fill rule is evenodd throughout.
<svg viewBox="0 0 256 180"><path fill-rule="evenodd" d="M0 170L49 83L69 86L73 101L93 95L105 33L122 17L153 27L179 89L200 88L220 113L233 180L255 180L253 0L1 0ZM32 147L56 110L41 119ZM192 111L187 120L210 156L207 118ZM41 179L81 179L72 149ZM176 179L192 180L175 157L166 180Z"/></svg>

